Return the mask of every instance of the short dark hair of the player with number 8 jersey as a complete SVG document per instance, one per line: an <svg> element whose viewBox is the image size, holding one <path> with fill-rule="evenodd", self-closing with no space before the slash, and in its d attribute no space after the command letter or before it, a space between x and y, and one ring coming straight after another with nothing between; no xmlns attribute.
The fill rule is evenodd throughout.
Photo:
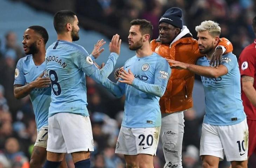
<svg viewBox="0 0 256 168"><path fill-rule="evenodd" d="M57 33L62 33L65 30L67 23L73 23L75 13L70 10L60 10L56 12L53 18L53 26Z"/></svg>

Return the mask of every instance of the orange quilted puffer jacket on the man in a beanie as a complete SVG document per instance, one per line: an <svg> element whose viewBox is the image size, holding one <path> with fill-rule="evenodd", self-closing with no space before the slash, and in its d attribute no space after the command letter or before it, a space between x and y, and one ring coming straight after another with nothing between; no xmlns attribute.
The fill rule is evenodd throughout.
<svg viewBox="0 0 256 168"><path fill-rule="evenodd" d="M227 38L220 38L218 45L226 48L225 53L233 51L233 46ZM164 58L176 61L196 64L200 54L197 40L192 37L181 38L169 46L152 40L150 42L152 51ZM194 86L195 74L188 70L172 69L168 81L166 92L160 98L162 113L174 113L183 111L193 106L192 90Z"/></svg>

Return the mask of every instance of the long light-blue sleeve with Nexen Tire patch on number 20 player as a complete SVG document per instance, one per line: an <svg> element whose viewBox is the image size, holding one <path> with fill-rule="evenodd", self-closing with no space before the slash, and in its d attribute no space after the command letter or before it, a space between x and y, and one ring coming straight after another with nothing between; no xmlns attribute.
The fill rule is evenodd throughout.
<svg viewBox="0 0 256 168"><path fill-rule="evenodd" d="M166 90L170 75L171 69L168 62L164 59L161 59L158 60L156 64L154 84L149 84L134 78L132 86L144 93L162 97Z"/></svg>

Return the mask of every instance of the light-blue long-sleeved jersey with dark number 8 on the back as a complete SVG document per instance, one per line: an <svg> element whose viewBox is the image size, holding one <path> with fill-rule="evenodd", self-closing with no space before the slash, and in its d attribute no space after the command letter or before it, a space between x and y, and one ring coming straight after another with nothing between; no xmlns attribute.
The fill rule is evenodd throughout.
<svg viewBox="0 0 256 168"><path fill-rule="evenodd" d="M52 84L49 117L56 113L89 116L85 75L103 83L113 71L118 55L112 52L99 70L88 52L80 45L58 40L46 50L46 67Z"/></svg>

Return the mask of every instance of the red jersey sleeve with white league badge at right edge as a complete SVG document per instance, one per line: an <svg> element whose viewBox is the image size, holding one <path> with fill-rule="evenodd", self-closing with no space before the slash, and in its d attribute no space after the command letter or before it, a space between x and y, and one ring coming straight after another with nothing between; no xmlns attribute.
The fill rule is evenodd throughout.
<svg viewBox="0 0 256 168"><path fill-rule="evenodd" d="M248 52L242 52L239 57L240 74L253 77L255 76L255 57Z"/></svg>

